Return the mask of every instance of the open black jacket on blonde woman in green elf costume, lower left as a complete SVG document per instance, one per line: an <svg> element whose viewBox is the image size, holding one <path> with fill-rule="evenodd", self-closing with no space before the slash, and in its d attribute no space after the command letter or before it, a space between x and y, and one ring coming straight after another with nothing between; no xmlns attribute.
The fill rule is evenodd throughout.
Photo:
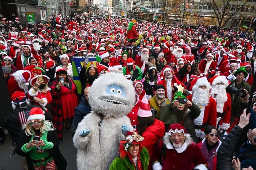
<svg viewBox="0 0 256 170"><path fill-rule="evenodd" d="M25 129L24 129L22 131L20 141L17 143L16 153L20 156L26 157L27 166L29 167L29 170L34 170L33 164L32 164L31 159L29 157L29 153L25 153L21 150L21 147L25 143L29 143L30 139L31 139L31 136L27 136L26 133L25 133ZM54 145L52 149L49 149L47 151L50 153L50 155L52 155L57 168L59 170L65 170L66 166L67 166L67 161L60 152L59 139L58 139L56 130L48 131L47 140L49 142L52 142L53 145Z"/></svg>

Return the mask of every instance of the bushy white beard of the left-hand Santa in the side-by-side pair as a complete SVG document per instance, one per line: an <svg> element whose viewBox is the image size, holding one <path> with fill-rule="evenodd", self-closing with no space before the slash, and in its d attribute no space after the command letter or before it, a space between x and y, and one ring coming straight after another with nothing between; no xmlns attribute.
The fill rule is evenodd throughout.
<svg viewBox="0 0 256 170"><path fill-rule="evenodd" d="M209 104L209 91L209 87L206 89L194 87L192 97L193 103L195 103L197 106L207 106Z"/></svg>

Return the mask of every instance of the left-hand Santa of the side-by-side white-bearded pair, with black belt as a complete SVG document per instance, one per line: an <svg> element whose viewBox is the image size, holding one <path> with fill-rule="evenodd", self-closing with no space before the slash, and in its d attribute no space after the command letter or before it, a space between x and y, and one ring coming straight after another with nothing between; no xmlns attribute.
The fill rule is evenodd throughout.
<svg viewBox="0 0 256 170"><path fill-rule="evenodd" d="M192 95L187 98L196 104L201 112L200 115L194 119L195 131L197 138L204 138L204 127L206 125L216 126L217 109L216 101L209 95L210 83L205 76L200 76L191 81Z"/></svg>

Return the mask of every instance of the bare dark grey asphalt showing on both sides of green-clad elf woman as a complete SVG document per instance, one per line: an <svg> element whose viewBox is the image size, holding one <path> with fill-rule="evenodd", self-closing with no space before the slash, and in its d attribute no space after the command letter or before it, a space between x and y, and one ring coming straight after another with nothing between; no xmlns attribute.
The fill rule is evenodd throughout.
<svg viewBox="0 0 256 170"><path fill-rule="evenodd" d="M6 141L0 146L0 170L24 170L23 157L12 155L13 150L11 137L6 135ZM64 131L64 142L60 143L60 151L68 162L67 170L76 170L76 149L71 133Z"/></svg>

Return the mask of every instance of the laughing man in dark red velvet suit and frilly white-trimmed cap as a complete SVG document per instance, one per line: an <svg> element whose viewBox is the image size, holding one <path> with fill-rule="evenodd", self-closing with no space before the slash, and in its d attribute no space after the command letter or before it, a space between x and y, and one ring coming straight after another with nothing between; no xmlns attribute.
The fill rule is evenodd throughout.
<svg viewBox="0 0 256 170"><path fill-rule="evenodd" d="M155 149L153 170L207 170L206 165L207 162L203 153L192 142L192 138L185 127L178 123L170 125L163 140L158 142Z"/></svg>

